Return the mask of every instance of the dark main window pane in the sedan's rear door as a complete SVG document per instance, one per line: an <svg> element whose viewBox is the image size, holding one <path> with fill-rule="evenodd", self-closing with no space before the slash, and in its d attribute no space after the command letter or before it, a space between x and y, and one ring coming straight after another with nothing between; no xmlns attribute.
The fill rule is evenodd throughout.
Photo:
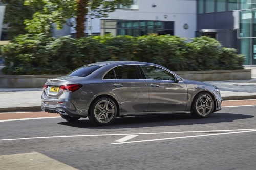
<svg viewBox="0 0 256 170"><path fill-rule="evenodd" d="M117 79L140 79L135 65L123 65L114 69Z"/></svg>

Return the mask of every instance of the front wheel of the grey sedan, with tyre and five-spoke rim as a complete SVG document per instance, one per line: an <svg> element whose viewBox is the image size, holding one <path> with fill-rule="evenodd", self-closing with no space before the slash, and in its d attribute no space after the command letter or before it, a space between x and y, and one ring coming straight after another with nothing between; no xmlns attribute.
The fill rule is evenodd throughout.
<svg viewBox="0 0 256 170"><path fill-rule="evenodd" d="M205 92L196 95L191 106L191 114L197 118L206 118L212 112L214 112L214 100L212 97Z"/></svg>

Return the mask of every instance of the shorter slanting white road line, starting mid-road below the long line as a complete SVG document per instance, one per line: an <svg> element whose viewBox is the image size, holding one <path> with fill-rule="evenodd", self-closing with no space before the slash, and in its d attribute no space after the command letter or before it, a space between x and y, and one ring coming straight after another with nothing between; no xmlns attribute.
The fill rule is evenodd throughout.
<svg viewBox="0 0 256 170"><path fill-rule="evenodd" d="M203 136L216 136L216 135L228 135L228 134L234 134L234 133L247 133L247 132L256 132L256 130L242 131L242 132L218 133L218 134L208 134L208 135L197 135L197 136L172 137L172 138L164 138L164 139L140 140L140 141L121 142L121 143L110 143L110 144L139 143L139 142L148 142L148 141L171 140L171 139L184 139L184 138L203 137Z"/></svg>

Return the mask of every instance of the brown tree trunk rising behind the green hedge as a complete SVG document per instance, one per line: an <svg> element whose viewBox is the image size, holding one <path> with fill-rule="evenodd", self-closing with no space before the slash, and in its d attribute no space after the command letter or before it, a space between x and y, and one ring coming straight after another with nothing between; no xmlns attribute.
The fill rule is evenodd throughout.
<svg viewBox="0 0 256 170"><path fill-rule="evenodd" d="M88 9L88 0L77 0L77 16L76 16L76 38L84 37L86 34L84 30L86 30L86 15Z"/></svg>

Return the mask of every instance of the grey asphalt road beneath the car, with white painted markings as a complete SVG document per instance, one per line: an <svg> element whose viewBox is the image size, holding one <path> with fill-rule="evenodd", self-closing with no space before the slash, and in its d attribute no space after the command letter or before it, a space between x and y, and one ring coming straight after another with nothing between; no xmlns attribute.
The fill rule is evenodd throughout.
<svg viewBox="0 0 256 170"><path fill-rule="evenodd" d="M255 115L256 106L243 106L107 127L58 117L0 122L0 169L255 169Z"/></svg>

